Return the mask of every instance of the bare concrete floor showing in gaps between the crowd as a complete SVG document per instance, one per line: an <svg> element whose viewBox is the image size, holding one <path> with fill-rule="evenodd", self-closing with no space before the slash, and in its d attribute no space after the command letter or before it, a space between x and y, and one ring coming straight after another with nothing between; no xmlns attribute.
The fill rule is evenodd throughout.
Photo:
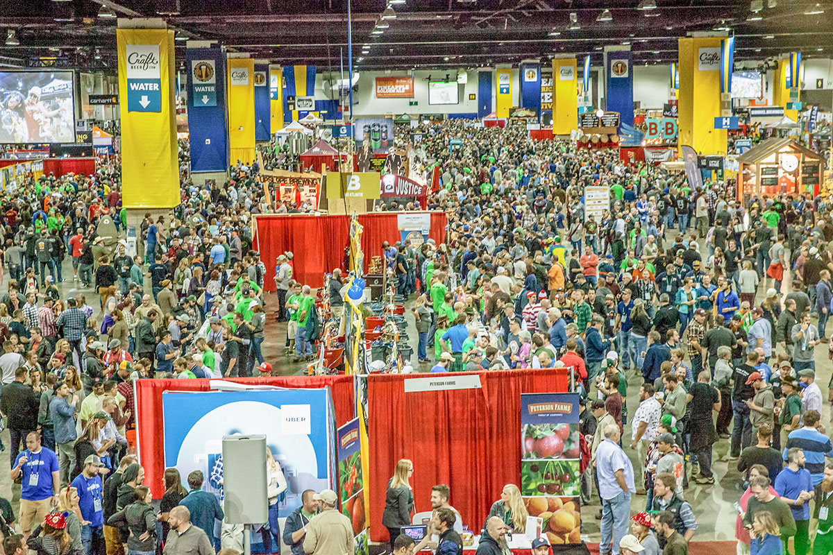
<svg viewBox="0 0 833 555"><path fill-rule="evenodd" d="M58 284L61 290L62 298L75 295L81 292L87 296L87 302L93 307L97 307L98 299L92 288L80 288L78 282L72 281L72 267L65 264L63 267L63 275L69 276L69 280L64 280L62 284ZM786 290L787 284L791 280L784 280L786 295L789 291ZM147 284L149 289L149 283ZM759 287L760 295L766 291L766 287L761 285ZM759 297L760 300L760 297ZM267 327L265 330L266 339L262 344L264 357L268 362L272 363L273 368L277 374L293 375L300 374L302 371L302 364L292 363L294 354L284 355L283 348L286 341L286 324L277 323L275 321L273 311L277 307L276 295L267 294ZM409 322L409 328L413 325L413 317L409 311L406 312L406 317ZM815 323L815 320L814 320ZM411 334L411 343L416 352L416 334ZM416 365L416 356L413 357L415 362L415 371L426 372L429 365ZM306 366L303 366L306 369ZM820 344L816 347L816 381L822 389L822 394L826 394L826 384L831 379L831 369L833 364L827 357L826 344ZM636 407L639 405L637 395L639 386L642 383L641 376L633 374L628 377L628 395L627 405L630 414L634 414ZM822 414L822 423L827 424L831 422L830 406L825 404ZM625 435L622 438L623 444L629 444L631 437L630 422L625 426ZM0 434L3 444L8 449L9 437L8 432L3 431ZM735 503L741 496L741 473L736 469L736 461L727 461L729 441L721 439L715 444L714 462L712 465L715 473L715 483L709 485L698 485L691 481L690 488L686 490L686 501L691 503L692 508L697 516L698 530L695 539L698 541L707 540L732 540L735 537L735 518L736 511L733 508ZM636 452L626 448L626 452L631 457L631 461L636 466L641 464L641 461L636 459ZM6 451L7 453L7 451ZM2 455L0 455L2 459ZM7 464L0 464L0 496L7 499L13 499L12 506L17 514L18 499L20 495L20 486L13 485L9 478ZM13 487L13 489L12 489ZM637 484L638 487L638 484ZM631 500L631 513L638 513L644 510L646 503L645 496L633 496ZM596 520L595 515L598 512L598 501L594 498L593 502L581 508L582 517L582 532L589 537L590 542L598 542L599 537L599 521Z"/></svg>

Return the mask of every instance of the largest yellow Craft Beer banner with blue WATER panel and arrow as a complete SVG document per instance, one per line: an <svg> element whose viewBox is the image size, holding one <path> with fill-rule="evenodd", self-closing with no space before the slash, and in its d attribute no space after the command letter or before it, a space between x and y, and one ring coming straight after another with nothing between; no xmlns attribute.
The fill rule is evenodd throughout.
<svg viewBox="0 0 833 555"><path fill-rule="evenodd" d="M173 35L168 29L116 30L125 208L180 202Z"/></svg>

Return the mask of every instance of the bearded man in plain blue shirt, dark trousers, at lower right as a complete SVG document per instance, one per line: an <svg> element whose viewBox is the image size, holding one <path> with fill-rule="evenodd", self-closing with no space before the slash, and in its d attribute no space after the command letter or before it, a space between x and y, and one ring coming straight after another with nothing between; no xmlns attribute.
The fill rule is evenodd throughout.
<svg viewBox="0 0 833 555"><path fill-rule="evenodd" d="M797 447L786 453L787 465L776 477L776 493L790 506L796 520L796 536L793 543L796 555L806 555L810 546L810 500L815 497L810 472L804 468L804 452Z"/></svg>

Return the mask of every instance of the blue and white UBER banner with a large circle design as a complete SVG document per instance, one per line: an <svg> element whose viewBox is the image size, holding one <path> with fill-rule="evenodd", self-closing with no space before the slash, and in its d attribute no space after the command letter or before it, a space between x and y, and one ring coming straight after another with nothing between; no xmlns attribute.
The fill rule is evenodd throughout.
<svg viewBox="0 0 833 555"><path fill-rule="evenodd" d="M280 517L301 506L305 489L335 489L336 425L329 389L166 391L162 415L165 468L176 467L183 481L201 470L206 477L202 489L221 500L224 435L266 435L267 448L287 478L285 497L278 502Z"/></svg>

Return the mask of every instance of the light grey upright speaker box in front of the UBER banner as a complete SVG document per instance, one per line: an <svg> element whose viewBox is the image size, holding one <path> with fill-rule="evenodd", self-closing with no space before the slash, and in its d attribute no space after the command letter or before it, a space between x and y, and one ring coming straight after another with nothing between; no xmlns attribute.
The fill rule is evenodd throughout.
<svg viewBox="0 0 833 555"><path fill-rule="evenodd" d="M227 435L222 439L223 511L230 524L269 521L265 435Z"/></svg>

